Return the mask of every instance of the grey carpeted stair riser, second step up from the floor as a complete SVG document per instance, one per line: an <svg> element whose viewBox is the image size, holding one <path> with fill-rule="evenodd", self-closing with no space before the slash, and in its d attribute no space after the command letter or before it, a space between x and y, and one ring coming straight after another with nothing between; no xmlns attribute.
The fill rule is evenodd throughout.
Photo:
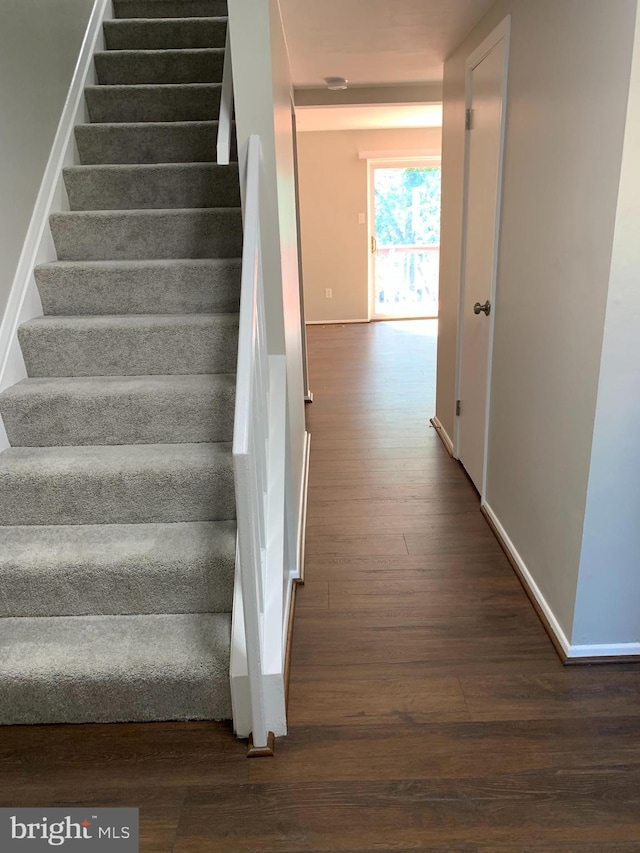
<svg viewBox="0 0 640 853"><path fill-rule="evenodd" d="M40 528L21 527L24 542L35 544L22 554L11 548L8 555L4 531L11 534L14 528L0 528L0 618L230 613L235 525L218 523L212 536L195 545L180 532L178 536L185 539L182 552L166 531L173 527L197 531L208 525L158 525L161 533L156 541L144 533L135 538L137 531L154 527L113 525L128 553L109 536L94 533L100 527L78 527L73 554L66 543L59 544L59 531L66 533L70 528L42 528L52 540L46 553L42 537L29 536L30 530ZM92 536L97 541L91 542Z"/></svg>

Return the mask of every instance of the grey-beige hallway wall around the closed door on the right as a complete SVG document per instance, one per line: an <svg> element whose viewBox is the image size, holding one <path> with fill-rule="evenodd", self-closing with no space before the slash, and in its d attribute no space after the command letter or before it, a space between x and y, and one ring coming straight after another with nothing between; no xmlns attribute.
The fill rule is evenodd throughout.
<svg viewBox="0 0 640 853"><path fill-rule="evenodd" d="M499 0L445 64L437 415L453 434L464 63L512 16L487 502L572 634L636 0Z"/></svg>

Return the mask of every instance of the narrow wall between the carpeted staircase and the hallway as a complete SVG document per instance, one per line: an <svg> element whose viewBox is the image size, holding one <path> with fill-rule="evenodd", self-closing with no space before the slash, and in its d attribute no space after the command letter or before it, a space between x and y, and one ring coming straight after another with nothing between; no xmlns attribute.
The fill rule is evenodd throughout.
<svg viewBox="0 0 640 853"><path fill-rule="evenodd" d="M278 0L228 0L238 148L262 142L262 249L269 351L287 357L292 458L291 498L301 500L305 413L298 235L296 227L292 83ZM290 517L297 532L297 515Z"/></svg>

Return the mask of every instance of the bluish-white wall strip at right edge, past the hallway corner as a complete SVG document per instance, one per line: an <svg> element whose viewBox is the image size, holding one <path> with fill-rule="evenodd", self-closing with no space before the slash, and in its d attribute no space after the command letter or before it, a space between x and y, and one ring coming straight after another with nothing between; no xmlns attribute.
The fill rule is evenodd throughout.
<svg viewBox="0 0 640 853"><path fill-rule="evenodd" d="M640 16L622 157L575 644L640 643ZM640 647L632 649L635 654Z"/></svg>

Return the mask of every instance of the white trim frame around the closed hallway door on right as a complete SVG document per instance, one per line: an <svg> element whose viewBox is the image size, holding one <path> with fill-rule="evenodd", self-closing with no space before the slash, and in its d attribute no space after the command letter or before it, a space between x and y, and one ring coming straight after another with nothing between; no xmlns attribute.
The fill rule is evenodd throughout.
<svg viewBox="0 0 640 853"><path fill-rule="evenodd" d="M482 488L480 489L480 502L484 505L487 496L487 461L489 449L489 424L491 419L491 376L493 372L493 346L494 346L494 330L495 330L495 307L496 307L496 285L498 279L498 260L500 255L500 225L502 220L502 183L504 172L504 149L507 126L507 90L509 78L509 54L511 46L511 15L507 15L498 26L481 42L478 47L472 51L467 57L465 63L465 98L464 108L466 111L471 108L472 92L471 92L471 75L473 70L482 62L483 59L491 53L493 48L504 40L505 51L502 65L502 113L500 116L500 153L498 162L498 181L497 181L497 204L496 204L496 219L494 227L494 257L493 271L491 276L491 306L492 311L489 316L489 353L487 361L487 406L485 416L484 430L484 449L483 449L483 469L482 469ZM456 394L455 399L461 399L462 389L462 352L464 346L464 297L465 297L465 277L466 277L466 248L467 248L467 223L468 223L468 203L469 203L469 130L465 130L464 141L464 185L463 185L463 208L462 208L462 240L460 241L460 287L458 295L458 344L456 354ZM453 456L454 459L459 459L458 450L460 444L460 421L454 411L454 427L453 427Z"/></svg>

